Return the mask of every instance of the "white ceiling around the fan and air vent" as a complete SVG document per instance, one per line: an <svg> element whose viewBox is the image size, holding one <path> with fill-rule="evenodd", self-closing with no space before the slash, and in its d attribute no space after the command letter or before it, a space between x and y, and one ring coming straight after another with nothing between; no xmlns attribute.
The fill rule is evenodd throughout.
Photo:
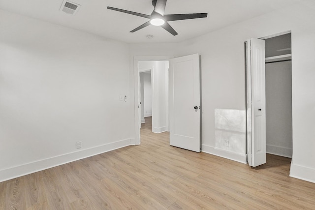
<svg viewBox="0 0 315 210"><path fill-rule="evenodd" d="M130 33L148 19L107 9L150 15L152 0L71 1L81 4L75 15L59 11L63 0L0 0L0 8L126 43L178 43L302 0L167 0L165 14L208 13L207 18L169 22L178 32L176 36L155 26ZM148 34L153 39L147 39Z"/></svg>

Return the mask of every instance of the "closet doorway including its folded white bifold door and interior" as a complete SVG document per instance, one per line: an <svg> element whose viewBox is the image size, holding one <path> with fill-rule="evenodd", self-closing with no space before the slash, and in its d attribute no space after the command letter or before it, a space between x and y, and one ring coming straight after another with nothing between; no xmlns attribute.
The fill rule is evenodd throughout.
<svg viewBox="0 0 315 210"><path fill-rule="evenodd" d="M291 33L246 46L248 162L255 167L266 153L292 157Z"/></svg>

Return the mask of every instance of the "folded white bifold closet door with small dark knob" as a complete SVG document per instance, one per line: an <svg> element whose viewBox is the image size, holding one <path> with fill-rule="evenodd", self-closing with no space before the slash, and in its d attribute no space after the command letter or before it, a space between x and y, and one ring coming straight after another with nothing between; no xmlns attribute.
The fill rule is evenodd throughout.
<svg viewBox="0 0 315 210"><path fill-rule="evenodd" d="M247 157L250 166L266 163L265 41L247 40Z"/></svg>

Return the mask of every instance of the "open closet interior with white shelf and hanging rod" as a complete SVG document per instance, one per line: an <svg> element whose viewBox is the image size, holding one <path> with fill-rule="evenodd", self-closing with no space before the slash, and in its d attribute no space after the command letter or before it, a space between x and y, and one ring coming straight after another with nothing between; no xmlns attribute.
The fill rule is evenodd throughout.
<svg viewBox="0 0 315 210"><path fill-rule="evenodd" d="M266 153L292 157L291 33L265 39Z"/></svg>

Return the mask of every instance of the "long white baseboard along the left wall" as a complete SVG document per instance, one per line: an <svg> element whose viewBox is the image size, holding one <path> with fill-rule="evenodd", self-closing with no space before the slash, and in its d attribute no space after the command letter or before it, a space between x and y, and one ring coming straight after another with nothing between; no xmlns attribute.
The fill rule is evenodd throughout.
<svg viewBox="0 0 315 210"><path fill-rule="evenodd" d="M0 170L0 182L32 174L34 172L42 171L55 166L63 165L65 163L73 162L86 157L94 156L96 154L123 148L129 146L130 142L131 139L125 139L85 150L78 150L75 152L34 161L12 168L3 169Z"/></svg>

